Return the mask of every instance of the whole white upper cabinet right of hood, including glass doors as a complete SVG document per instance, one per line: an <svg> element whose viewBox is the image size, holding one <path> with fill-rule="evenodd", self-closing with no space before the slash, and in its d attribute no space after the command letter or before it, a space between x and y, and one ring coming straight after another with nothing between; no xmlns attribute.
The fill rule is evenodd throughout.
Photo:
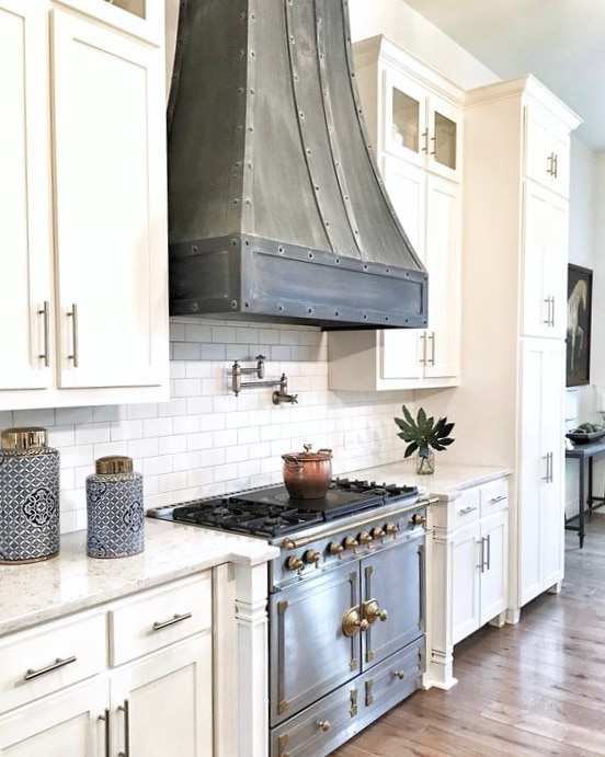
<svg viewBox="0 0 605 757"><path fill-rule="evenodd" d="M331 389L459 381L463 91L384 36L354 46L370 141L397 217L429 273L426 329L335 332Z"/></svg>

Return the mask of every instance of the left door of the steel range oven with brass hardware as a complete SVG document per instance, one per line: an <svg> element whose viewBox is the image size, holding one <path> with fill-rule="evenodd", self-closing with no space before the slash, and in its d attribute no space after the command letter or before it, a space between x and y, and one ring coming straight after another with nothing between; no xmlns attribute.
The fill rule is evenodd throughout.
<svg viewBox="0 0 605 757"><path fill-rule="evenodd" d="M272 726L358 675L358 569L355 561L270 597Z"/></svg>

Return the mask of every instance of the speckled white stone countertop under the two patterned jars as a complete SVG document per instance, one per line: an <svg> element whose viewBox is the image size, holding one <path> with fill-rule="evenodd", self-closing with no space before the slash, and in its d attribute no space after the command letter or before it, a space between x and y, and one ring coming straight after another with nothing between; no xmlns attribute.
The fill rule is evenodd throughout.
<svg viewBox="0 0 605 757"><path fill-rule="evenodd" d="M0 565L0 635L182 578L227 562L258 565L278 554L262 539L145 519L145 550L87 557L85 531L61 536L58 557Z"/></svg>

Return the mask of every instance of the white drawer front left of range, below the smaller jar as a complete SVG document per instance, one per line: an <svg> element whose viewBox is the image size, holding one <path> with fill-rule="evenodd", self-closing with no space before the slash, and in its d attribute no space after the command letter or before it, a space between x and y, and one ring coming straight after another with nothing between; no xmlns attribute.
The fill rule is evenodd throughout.
<svg viewBox="0 0 605 757"><path fill-rule="evenodd" d="M122 665L213 624L212 574L179 581L114 605L110 664Z"/></svg>

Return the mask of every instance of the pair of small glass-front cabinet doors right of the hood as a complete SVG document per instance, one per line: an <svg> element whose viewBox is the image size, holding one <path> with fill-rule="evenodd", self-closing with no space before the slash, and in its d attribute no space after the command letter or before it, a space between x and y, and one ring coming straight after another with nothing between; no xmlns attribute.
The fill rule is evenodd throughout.
<svg viewBox="0 0 605 757"><path fill-rule="evenodd" d="M384 98L385 152L459 180L460 108L391 71L384 73Z"/></svg>

